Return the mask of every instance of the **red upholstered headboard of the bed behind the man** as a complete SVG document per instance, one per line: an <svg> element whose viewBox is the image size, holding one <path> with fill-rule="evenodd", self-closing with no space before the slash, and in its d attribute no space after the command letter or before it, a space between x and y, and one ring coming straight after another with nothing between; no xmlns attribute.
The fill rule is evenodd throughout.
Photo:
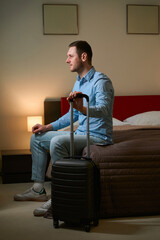
<svg viewBox="0 0 160 240"><path fill-rule="evenodd" d="M67 113L69 104L61 98L61 116ZM115 96L113 117L124 120L127 117L147 111L160 111L160 95Z"/></svg>

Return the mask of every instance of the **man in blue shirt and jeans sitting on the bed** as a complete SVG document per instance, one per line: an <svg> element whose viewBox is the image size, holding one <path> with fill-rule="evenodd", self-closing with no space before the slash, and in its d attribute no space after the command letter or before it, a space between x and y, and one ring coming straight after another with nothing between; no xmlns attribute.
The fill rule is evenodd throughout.
<svg viewBox="0 0 160 240"><path fill-rule="evenodd" d="M114 89L111 80L97 72L92 66L92 49L86 41L76 41L69 45L67 60L70 71L77 72L77 80L68 101L73 99L74 122L79 120L79 127L74 133L75 154L81 155L86 146L86 102L76 98L78 93L89 96L90 144L112 144L112 108ZM57 131L70 125L68 112L57 121L48 125L33 126L31 137L32 180L33 187L22 194L14 196L15 201L47 201L44 189L47 150L52 162L66 157L70 151L70 133ZM51 200L35 209L35 216L42 216L51 206Z"/></svg>

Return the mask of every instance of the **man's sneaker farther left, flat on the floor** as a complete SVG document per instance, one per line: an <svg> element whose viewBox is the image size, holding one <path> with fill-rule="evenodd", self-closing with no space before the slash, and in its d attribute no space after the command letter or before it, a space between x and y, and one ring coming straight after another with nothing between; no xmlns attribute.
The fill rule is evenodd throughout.
<svg viewBox="0 0 160 240"><path fill-rule="evenodd" d="M33 188L30 188L24 193L16 194L14 200L45 202L48 200L48 197L44 188L40 192L36 192Z"/></svg>

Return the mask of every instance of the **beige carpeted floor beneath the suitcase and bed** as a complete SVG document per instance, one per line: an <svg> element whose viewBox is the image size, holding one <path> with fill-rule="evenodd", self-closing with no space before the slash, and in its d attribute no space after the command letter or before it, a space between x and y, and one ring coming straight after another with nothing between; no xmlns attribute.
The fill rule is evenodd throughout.
<svg viewBox="0 0 160 240"><path fill-rule="evenodd" d="M53 227L51 219L34 217L38 202L15 202L13 195L31 187L31 183L0 184L0 239L32 240L159 240L160 216L101 219L89 233L82 228ZM50 182L45 183L50 194Z"/></svg>

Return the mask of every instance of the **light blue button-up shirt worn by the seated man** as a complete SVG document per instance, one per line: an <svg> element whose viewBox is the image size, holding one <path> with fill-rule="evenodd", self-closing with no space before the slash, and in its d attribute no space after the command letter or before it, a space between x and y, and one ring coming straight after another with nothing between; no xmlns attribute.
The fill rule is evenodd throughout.
<svg viewBox="0 0 160 240"><path fill-rule="evenodd" d="M111 80L94 67L82 78L77 76L73 91L80 91L89 96L89 129L90 136L104 140L104 144L112 144L112 110L114 89ZM86 100L83 100L86 106ZM75 134L87 134L87 117L74 109L73 121L79 120ZM51 123L54 130L70 125L70 111Z"/></svg>

